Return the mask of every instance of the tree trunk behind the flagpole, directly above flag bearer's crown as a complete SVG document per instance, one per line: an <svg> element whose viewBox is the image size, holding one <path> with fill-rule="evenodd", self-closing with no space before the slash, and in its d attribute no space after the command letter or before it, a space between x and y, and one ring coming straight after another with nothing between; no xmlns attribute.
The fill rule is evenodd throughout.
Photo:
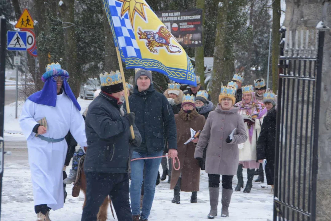
<svg viewBox="0 0 331 221"><path fill-rule="evenodd" d="M103 8L103 4L102 4ZM113 34L111 32L105 9L102 9L104 17L104 34L105 34L105 65L104 71L119 70L117 52L114 44Z"/></svg>

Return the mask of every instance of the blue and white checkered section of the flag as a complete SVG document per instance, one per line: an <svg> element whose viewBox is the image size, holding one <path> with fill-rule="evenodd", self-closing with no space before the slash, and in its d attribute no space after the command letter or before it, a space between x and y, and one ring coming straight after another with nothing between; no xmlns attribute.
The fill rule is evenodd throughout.
<svg viewBox="0 0 331 221"><path fill-rule="evenodd" d="M115 0L108 0L109 9L112 15L112 22L114 26L115 35L118 39L119 50L124 58L138 57L141 59L139 46L134 35L134 30L130 23L128 12L121 18L122 2Z"/></svg>

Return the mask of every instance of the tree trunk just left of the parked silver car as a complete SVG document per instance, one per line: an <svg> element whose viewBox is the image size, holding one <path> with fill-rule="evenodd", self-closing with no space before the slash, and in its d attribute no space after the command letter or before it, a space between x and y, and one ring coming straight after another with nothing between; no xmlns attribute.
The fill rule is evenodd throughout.
<svg viewBox="0 0 331 221"><path fill-rule="evenodd" d="M65 0L60 6L63 36L65 46L66 70L69 72L69 83L75 97L78 97L80 90L81 77L80 68L77 64L77 42L74 24L74 0Z"/></svg>

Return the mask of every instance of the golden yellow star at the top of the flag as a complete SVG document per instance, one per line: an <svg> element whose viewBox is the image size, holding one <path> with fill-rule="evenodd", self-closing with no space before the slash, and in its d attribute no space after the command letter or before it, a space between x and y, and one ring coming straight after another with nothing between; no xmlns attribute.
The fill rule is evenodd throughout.
<svg viewBox="0 0 331 221"><path fill-rule="evenodd" d="M125 14L125 12L128 12L131 25L133 27L133 19L134 15L137 12L145 21L145 11L143 6L148 7L145 0L118 0L120 2L123 2L122 9L121 9L121 17Z"/></svg>

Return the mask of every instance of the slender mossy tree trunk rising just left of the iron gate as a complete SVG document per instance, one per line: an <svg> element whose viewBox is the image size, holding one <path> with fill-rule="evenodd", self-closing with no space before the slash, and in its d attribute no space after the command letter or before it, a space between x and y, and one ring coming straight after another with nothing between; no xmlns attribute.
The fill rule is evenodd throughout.
<svg viewBox="0 0 331 221"><path fill-rule="evenodd" d="M272 90L278 87L278 63L279 63L279 28L280 28L280 0L272 2Z"/></svg>

